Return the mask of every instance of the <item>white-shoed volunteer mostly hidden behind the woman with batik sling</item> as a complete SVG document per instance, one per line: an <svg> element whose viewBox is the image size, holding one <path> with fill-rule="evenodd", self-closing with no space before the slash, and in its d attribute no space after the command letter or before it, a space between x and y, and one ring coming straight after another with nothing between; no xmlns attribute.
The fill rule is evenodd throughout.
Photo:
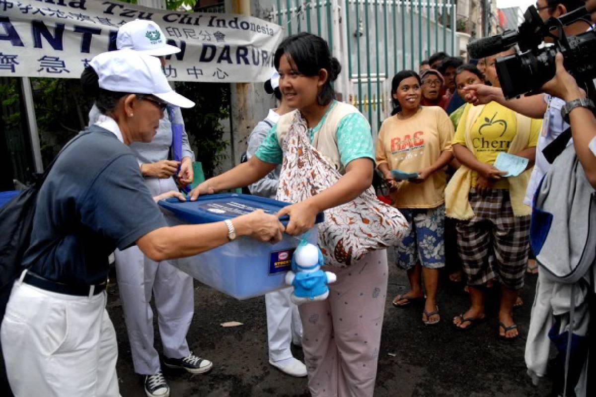
<svg viewBox="0 0 596 397"><path fill-rule="evenodd" d="M278 107L269 110L265 120L259 121L249 136L247 157L254 156L263 140L267 137L280 116L293 110L289 107L280 91L280 74L277 71L265 82L265 90L273 93ZM275 199L280 182L281 165L264 178L249 185L250 193ZM306 365L292 355L292 342L302 345L302 323L298 307L290 300L293 288L288 287L265 295L267 309L267 342L269 346L269 364L290 376L306 376Z"/></svg>

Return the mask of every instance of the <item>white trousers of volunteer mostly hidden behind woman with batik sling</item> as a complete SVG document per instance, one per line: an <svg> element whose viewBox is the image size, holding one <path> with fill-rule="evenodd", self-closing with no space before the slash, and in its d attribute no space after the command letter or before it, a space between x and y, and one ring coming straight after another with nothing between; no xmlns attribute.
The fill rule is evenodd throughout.
<svg viewBox="0 0 596 397"><path fill-rule="evenodd" d="M272 362L292 357L292 340L302 344L302 322L298 307L290 300L292 291L290 287L265 295L269 361Z"/></svg>

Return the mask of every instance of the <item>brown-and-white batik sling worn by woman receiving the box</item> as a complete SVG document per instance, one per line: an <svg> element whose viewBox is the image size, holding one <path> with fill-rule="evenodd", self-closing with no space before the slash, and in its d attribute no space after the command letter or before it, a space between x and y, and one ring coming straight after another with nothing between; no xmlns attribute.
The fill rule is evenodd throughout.
<svg viewBox="0 0 596 397"><path fill-rule="evenodd" d="M306 120L299 111L280 118L277 133L284 160L278 200L304 201L342 177L337 126L345 115L358 110L342 102L332 106L312 144ZM352 201L325 211L325 220L319 224L319 248L326 264L346 267L369 251L396 245L406 226L401 212L379 201L371 186Z"/></svg>

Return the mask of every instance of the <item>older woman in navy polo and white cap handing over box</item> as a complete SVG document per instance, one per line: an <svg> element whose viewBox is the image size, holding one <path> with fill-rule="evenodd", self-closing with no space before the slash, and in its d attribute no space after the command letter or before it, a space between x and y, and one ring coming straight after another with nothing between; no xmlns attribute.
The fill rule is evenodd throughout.
<svg viewBox="0 0 596 397"><path fill-rule="evenodd" d="M95 57L86 92L104 114L59 155L39 191L31 244L0 332L14 394L118 396L117 345L105 311L107 257L132 245L151 260L195 255L235 236L281 239L261 211L231 221L167 227L139 171L133 142L150 142L173 92L154 57L131 50Z"/></svg>

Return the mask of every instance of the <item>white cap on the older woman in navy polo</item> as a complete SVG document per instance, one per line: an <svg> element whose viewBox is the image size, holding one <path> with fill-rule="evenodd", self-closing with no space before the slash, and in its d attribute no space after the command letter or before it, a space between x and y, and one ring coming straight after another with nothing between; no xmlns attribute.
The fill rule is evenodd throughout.
<svg viewBox="0 0 596 397"><path fill-rule="evenodd" d="M194 102L172 90L156 57L132 49L103 52L89 62L101 88L115 92L144 93L170 105L191 108Z"/></svg>

